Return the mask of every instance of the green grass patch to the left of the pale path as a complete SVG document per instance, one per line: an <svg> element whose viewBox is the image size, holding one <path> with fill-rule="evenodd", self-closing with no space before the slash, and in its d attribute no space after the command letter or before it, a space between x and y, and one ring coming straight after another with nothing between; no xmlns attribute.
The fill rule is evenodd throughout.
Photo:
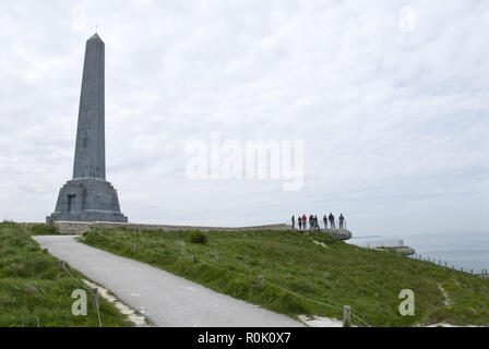
<svg viewBox="0 0 489 349"><path fill-rule="evenodd" d="M52 233L46 225L29 227L34 233ZM87 315L71 313L71 292L83 288L62 270L59 262L31 239L20 225L0 224L0 327L95 326L97 313L87 292ZM84 278L70 270L77 279ZM110 303L100 299L104 326L130 326Z"/></svg>

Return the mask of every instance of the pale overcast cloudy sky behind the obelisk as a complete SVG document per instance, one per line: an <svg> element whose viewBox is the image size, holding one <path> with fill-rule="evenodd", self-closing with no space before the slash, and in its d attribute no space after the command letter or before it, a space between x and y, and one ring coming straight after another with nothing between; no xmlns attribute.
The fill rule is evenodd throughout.
<svg viewBox="0 0 489 349"><path fill-rule="evenodd" d="M331 210L357 236L489 230L485 0L3 1L0 219L44 221L72 178L96 25L107 180L130 221ZM303 141L303 188L189 179L186 145L211 132Z"/></svg>

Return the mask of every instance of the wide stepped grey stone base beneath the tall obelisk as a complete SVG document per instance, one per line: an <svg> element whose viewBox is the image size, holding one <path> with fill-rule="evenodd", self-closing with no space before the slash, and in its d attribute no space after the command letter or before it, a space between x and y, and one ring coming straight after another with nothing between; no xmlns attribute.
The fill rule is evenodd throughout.
<svg viewBox="0 0 489 349"><path fill-rule="evenodd" d="M119 207L114 186L96 178L73 179L60 189L56 210L46 217L47 222L63 221L120 221L127 222Z"/></svg>

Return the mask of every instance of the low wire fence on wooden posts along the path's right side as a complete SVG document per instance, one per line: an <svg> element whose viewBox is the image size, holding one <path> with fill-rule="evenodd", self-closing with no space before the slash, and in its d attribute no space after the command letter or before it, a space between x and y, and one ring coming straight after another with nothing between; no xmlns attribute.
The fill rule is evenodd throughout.
<svg viewBox="0 0 489 349"><path fill-rule="evenodd" d="M141 252L141 249L140 249L139 244L133 244L133 254L136 254L139 252ZM144 254L153 254L153 255L158 256L158 257L162 256L162 254L153 252L153 251L144 251ZM239 273L239 272L236 272L236 270L231 270L229 268L217 266L217 265L215 265L213 263L210 263L210 262L207 262L205 260L202 260L201 257L198 258L194 255L191 255L191 254L188 254L188 253L182 253L182 256L190 258L190 261L192 261L193 263L200 262L202 264L205 264L205 265L207 265L210 267L213 267L215 269L222 270L224 273L230 273L230 274L235 274L235 275L238 275L238 276L241 276L241 277L244 277L244 278L253 279L255 282L258 282L261 286L264 286L266 284L266 285L269 285L271 287L274 287L274 288L276 288L276 289L278 289L278 290L283 291L283 292L289 293L291 296L295 296L295 297L298 297L298 298L301 298L301 299L306 299L308 301L311 301L311 302L317 303L317 304L324 305L326 308L336 309L336 310L339 310L342 312L345 309L345 306L342 308L342 306L338 306L338 305L329 304L329 303L321 302L321 301L318 301L315 299L312 299L312 298L299 294L297 292L290 291L290 290L288 290L288 289L286 289L284 287L281 287L281 286L278 286L278 285L276 285L274 282L271 282L270 280L265 279L262 275L258 275L258 274L257 275L250 275L250 274L246 274L246 273ZM351 314L353 317L358 320L360 323L362 323L367 327L371 327L371 325L369 323L367 323L363 318L361 318L358 315L356 315L354 312L350 312L350 314Z"/></svg>

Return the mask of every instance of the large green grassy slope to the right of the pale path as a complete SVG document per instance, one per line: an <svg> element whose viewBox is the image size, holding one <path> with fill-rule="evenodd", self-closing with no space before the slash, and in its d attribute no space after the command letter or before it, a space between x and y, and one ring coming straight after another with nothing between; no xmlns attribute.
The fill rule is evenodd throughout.
<svg viewBox="0 0 489 349"><path fill-rule="evenodd" d="M355 314L373 326L438 322L489 325L489 282L428 262L356 248L321 232L300 236L293 231L215 231L205 233L205 244L191 243L191 234L96 229L85 233L83 241L293 317L313 314L341 318L342 311L270 285L261 289L257 275L321 302L351 305ZM135 254L134 243L139 244ZM196 257L194 263L192 255ZM451 308L445 306L440 286L449 294ZM406 288L416 294L415 316L398 314L398 294ZM361 325L355 318L354 324Z"/></svg>

